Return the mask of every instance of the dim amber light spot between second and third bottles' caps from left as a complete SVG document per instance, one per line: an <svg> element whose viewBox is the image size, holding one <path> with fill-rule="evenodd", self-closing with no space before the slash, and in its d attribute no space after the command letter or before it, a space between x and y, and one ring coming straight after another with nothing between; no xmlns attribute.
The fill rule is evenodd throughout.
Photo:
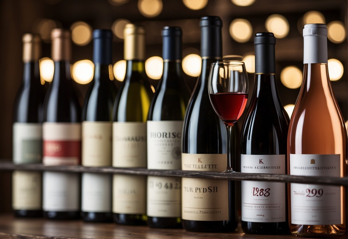
<svg viewBox="0 0 348 239"><path fill-rule="evenodd" d="M75 22L71 25L71 39L79 46L85 46L92 40L92 27L85 22Z"/></svg>

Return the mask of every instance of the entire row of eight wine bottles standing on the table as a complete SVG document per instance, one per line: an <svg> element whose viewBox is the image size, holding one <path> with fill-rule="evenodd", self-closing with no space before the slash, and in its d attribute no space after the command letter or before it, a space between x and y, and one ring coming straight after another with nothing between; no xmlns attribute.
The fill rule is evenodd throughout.
<svg viewBox="0 0 348 239"><path fill-rule="evenodd" d="M25 35L23 85L14 112L14 162L39 163L42 150L46 165L224 171L226 132L208 95L210 65L222 60L222 22L203 17L200 27L202 70L190 100L181 68L180 28L162 31L164 72L154 95L145 74L144 28L126 25L126 77L118 92L110 80L112 33L95 30L94 80L82 112L70 76L70 33L52 32L55 72L46 97L39 80L40 39ZM240 161L241 172L346 175L347 133L327 74L326 35L323 24L304 28L305 74L290 121L276 86L275 37L256 34L255 87L240 141L236 127L232 132L231 156ZM322 49L320 54L317 49ZM40 215L41 174L15 171L13 179L16 215ZM46 171L42 184L46 217L80 216L79 174ZM237 226L235 181L83 173L81 184L85 221L113 217L123 224L183 226L199 232L234 231ZM26 188L31 188L27 196ZM343 186L243 181L241 202L246 233L287 233L289 223L290 231L302 236L345 232ZM327 205L330 212L323 209Z"/></svg>

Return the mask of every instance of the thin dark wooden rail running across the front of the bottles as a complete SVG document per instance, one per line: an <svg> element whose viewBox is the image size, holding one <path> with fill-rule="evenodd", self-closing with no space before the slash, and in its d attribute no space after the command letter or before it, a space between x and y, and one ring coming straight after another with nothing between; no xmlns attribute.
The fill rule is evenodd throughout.
<svg viewBox="0 0 348 239"><path fill-rule="evenodd" d="M251 174L251 173L223 173L183 170L148 170L144 168L113 168L113 167L83 167L74 166L45 166L43 164L13 164L8 160L0 160L0 170L31 170L31 171L62 171L62 172L99 172L108 174L135 174L151 176L199 177L209 179L272 181L284 183L315 183L348 186L348 177L316 177L295 176L286 174Z"/></svg>

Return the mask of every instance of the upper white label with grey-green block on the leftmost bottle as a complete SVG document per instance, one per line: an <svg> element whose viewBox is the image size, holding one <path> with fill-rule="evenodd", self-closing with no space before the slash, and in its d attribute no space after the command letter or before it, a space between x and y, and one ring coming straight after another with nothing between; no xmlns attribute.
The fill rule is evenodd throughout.
<svg viewBox="0 0 348 239"><path fill-rule="evenodd" d="M13 162L42 162L42 124L13 124Z"/></svg>

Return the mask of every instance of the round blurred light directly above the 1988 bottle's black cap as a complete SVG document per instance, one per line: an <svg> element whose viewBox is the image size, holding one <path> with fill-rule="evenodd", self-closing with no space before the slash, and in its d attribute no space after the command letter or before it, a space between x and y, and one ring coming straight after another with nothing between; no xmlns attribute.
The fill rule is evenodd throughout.
<svg viewBox="0 0 348 239"><path fill-rule="evenodd" d="M289 22L283 15L273 14L267 17L265 26L267 31L273 32L276 38L284 38L289 33Z"/></svg>

